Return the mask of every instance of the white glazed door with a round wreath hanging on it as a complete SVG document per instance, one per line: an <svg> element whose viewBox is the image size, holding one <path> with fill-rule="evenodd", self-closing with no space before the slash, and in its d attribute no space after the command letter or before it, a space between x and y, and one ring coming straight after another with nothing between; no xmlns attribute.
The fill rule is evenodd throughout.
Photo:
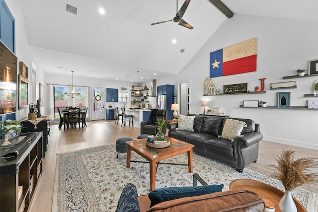
<svg viewBox="0 0 318 212"><path fill-rule="evenodd" d="M105 92L104 87L92 87L91 89L91 120L106 119L105 111Z"/></svg>

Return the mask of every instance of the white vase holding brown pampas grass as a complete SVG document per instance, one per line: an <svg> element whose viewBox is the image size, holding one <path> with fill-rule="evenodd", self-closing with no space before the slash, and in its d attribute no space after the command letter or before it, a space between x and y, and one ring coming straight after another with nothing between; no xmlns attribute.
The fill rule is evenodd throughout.
<svg viewBox="0 0 318 212"><path fill-rule="evenodd" d="M295 188L310 183L318 182L318 173L311 173L310 169L318 166L317 158L304 157L294 160L295 151L283 150L275 157L278 165L268 165L274 168L275 172L270 175L280 180L285 188L285 194L279 202L279 208L282 212L297 212L291 191Z"/></svg>

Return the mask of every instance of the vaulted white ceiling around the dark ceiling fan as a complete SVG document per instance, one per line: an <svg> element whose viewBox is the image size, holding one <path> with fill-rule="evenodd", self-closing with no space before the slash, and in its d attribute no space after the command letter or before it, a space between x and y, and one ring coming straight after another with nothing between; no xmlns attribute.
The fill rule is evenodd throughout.
<svg viewBox="0 0 318 212"><path fill-rule="evenodd" d="M28 42L44 72L125 81L178 74L227 17L209 0L192 0L170 20L176 0L20 0ZM184 0L178 0L178 7ZM318 21L318 0L223 0L236 14ZM77 15L66 11L77 7ZM105 14L98 9L103 7ZM178 9L179 9L178 8ZM297 30L297 26L295 26ZM304 32L308 33L308 32ZM172 44L175 39L176 43ZM180 52L181 49L185 51ZM60 69L58 67L63 67ZM157 73L157 75L154 75Z"/></svg>

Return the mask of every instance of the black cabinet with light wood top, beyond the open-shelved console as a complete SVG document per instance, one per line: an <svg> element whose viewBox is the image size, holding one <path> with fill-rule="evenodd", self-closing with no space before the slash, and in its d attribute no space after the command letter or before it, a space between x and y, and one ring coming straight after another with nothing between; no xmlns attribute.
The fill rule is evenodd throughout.
<svg viewBox="0 0 318 212"><path fill-rule="evenodd" d="M42 132L43 133L43 157L45 157L46 150L48 148L49 136L50 136L50 118L51 115L43 115L46 118L40 118L41 120L35 120L39 122L30 122L29 120L23 120L21 122L21 133L27 132Z"/></svg>

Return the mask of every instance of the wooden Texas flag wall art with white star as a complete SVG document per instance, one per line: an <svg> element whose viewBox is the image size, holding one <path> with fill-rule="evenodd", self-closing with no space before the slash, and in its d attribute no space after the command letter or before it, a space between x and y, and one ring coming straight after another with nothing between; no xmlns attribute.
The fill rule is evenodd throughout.
<svg viewBox="0 0 318 212"><path fill-rule="evenodd" d="M210 77L256 71L257 38L210 53Z"/></svg>

